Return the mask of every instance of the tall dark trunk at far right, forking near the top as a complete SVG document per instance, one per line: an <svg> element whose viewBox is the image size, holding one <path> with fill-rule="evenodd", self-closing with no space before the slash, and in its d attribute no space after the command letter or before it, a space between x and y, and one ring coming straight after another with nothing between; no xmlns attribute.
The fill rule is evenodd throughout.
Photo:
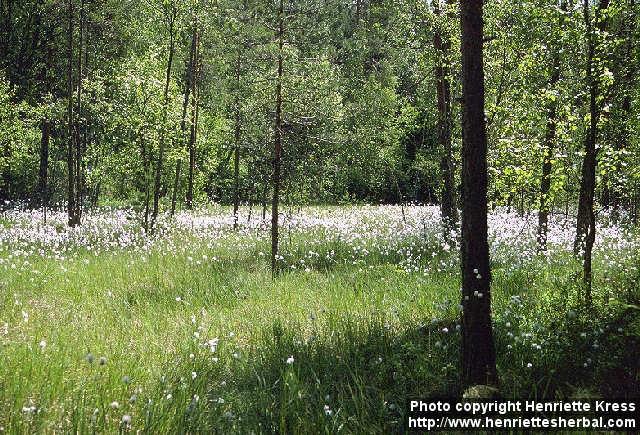
<svg viewBox="0 0 640 435"><path fill-rule="evenodd" d="M596 26L598 30L605 30L605 20L601 19L601 13L609 6L609 0L600 0L596 10ZM580 196L578 200L578 216L576 222L576 239L574 253L582 256L583 280L585 284L585 301L591 303L591 253L595 242L595 213L593 209L596 187L597 151L596 140L598 135L598 74L594 74L594 59L596 57L596 35L592 29L591 14L589 13L589 0L583 3L584 21L587 36L587 63L586 80L589 86L589 126L584 139L584 160L582 162L582 177L580 180Z"/></svg>

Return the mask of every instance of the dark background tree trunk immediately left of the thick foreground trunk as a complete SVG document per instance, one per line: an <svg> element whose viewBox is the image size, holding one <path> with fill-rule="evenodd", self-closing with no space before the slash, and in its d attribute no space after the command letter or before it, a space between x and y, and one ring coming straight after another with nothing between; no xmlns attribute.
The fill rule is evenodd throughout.
<svg viewBox="0 0 640 435"><path fill-rule="evenodd" d="M440 0L433 2L435 13L442 17ZM443 189L441 200L442 226L445 240L451 238L451 231L458 222L458 209L455 201L455 187L453 174L453 155L451 150L451 82L450 76L450 50L451 41L446 31L442 29L442 22L436 25L433 37L433 45L437 53L435 68L436 91L438 98L438 142L442 147L440 169L442 171Z"/></svg>

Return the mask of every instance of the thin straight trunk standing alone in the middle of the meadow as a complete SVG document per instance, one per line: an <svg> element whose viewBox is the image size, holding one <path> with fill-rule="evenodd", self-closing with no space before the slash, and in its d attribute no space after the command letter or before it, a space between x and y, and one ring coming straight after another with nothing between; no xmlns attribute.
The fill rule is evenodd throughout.
<svg viewBox="0 0 640 435"><path fill-rule="evenodd" d="M284 48L284 0L278 9L278 78L276 82L276 119L273 153L273 200L271 202L271 273L277 273L278 258L278 205L280 202L280 163L282 155L282 75Z"/></svg>

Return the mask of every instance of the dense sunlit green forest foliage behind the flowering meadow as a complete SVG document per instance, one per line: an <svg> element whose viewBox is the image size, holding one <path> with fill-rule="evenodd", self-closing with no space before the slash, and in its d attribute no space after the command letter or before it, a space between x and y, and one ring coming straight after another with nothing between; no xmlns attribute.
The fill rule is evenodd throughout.
<svg viewBox="0 0 640 435"><path fill-rule="evenodd" d="M2 199L39 197L38 150L45 120L53 125L49 203L65 198L71 15L72 96L82 100L73 116L84 135L81 171L87 205L116 201L141 206L163 142L160 196L169 208L176 164L189 160L188 128L180 125L193 121L185 116L183 103L194 29L200 35L196 201L232 201L237 129L240 199L265 202L273 152L276 3L3 1ZM627 204L634 212L640 191L637 8L633 1L609 2L601 18L606 30L596 35L594 68L602 112L597 196L604 206ZM285 9L284 201L438 202L443 150L437 140L433 35L439 29L452 41L448 61L456 120L460 50L455 3L441 15L429 2L406 0L288 1ZM484 15L490 201L536 207L546 107L556 101L550 203L573 208L589 118L581 5L488 2ZM175 53L165 116L171 34ZM559 62L554 64L556 53ZM560 77L551 83L554 68ZM460 141L454 122L455 167ZM187 178L183 168L178 207L184 203Z"/></svg>

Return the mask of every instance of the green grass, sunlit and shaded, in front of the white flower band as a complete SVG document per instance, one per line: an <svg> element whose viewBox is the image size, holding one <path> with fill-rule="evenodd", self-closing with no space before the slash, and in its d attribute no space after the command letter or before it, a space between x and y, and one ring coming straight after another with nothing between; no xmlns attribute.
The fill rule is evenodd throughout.
<svg viewBox="0 0 640 435"><path fill-rule="evenodd" d="M273 280L259 228L113 248L128 230L101 225L99 241L4 237L4 432L389 433L407 397L460 394L457 252L417 218L413 233L355 238L298 222ZM570 254L503 248L502 394L638 397L637 247L601 246L589 310Z"/></svg>

